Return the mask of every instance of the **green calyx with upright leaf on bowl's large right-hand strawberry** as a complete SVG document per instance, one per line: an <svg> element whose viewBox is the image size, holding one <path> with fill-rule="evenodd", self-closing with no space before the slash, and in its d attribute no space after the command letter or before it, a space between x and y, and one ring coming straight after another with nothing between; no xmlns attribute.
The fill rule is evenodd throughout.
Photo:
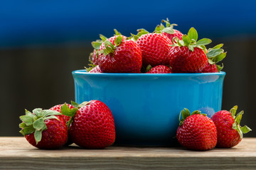
<svg viewBox="0 0 256 170"><path fill-rule="evenodd" d="M171 46L178 46L178 47L188 47L189 50L193 52L195 47L201 48L204 52L206 52L206 46L212 42L208 38L202 38L198 40L198 33L195 28L190 28L188 30L188 35L183 35L182 40L178 40L178 38L174 37L173 45Z"/></svg>

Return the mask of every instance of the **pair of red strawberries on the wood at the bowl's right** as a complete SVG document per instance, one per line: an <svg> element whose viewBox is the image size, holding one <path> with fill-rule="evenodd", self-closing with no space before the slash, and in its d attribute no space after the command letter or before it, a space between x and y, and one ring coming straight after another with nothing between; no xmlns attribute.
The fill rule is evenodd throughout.
<svg viewBox="0 0 256 170"><path fill-rule="evenodd" d="M230 111L218 111L211 118L201 111L190 113L184 108L176 132L178 142L187 149L208 150L214 147L231 148L242 140L242 134L250 132L246 125L241 127L243 111L236 114L238 106ZM181 119L182 115L182 119Z"/></svg>

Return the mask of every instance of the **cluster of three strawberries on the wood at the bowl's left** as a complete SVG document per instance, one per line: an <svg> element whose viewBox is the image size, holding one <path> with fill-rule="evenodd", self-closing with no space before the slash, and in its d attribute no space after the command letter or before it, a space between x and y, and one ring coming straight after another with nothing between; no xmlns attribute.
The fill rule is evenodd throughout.
<svg viewBox="0 0 256 170"><path fill-rule="evenodd" d="M55 149L73 143L88 149L109 147L115 140L114 118L101 101L72 102L48 110L36 108L21 115L19 125L26 140L39 149Z"/></svg>

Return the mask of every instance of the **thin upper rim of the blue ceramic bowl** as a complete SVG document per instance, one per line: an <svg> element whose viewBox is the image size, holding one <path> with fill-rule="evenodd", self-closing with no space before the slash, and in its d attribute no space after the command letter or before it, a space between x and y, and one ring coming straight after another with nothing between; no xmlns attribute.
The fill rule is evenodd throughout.
<svg viewBox="0 0 256 170"><path fill-rule="evenodd" d="M210 73L163 73L163 74L144 74L144 73L89 73L85 69L78 69L72 72L73 75L86 75L92 77L204 77L204 76L225 76L225 72Z"/></svg>

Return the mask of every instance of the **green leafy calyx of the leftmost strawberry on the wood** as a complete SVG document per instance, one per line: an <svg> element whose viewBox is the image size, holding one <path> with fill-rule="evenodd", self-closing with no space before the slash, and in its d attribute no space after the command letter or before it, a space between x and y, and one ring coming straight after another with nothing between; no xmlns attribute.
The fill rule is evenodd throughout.
<svg viewBox="0 0 256 170"><path fill-rule="evenodd" d="M34 132L36 144L42 139L43 130L47 130L45 120L57 119L55 115L61 115L58 111L43 110L42 108L35 108L32 113L25 109L26 115L21 115L19 118L22 123L19 124L21 134L23 136Z"/></svg>

